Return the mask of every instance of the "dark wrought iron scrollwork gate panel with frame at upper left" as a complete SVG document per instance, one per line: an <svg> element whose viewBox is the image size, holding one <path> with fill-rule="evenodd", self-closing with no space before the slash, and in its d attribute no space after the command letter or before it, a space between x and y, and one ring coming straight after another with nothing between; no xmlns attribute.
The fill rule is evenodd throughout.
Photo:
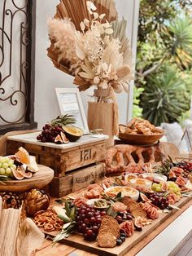
<svg viewBox="0 0 192 256"><path fill-rule="evenodd" d="M0 134L34 122L35 0L0 1Z"/></svg>

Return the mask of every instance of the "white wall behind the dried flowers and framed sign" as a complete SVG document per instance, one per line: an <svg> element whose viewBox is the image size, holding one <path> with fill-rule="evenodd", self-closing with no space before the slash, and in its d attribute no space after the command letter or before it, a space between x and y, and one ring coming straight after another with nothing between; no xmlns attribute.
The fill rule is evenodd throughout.
<svg viewBox="0 0 192 256"><path fill-rule="evenodd" d="M133 46L133 55L136 52L137 41L137 15L139 0L116 0L116 7L120 17L128 20L128 36ZM37 33L36 33L36 76L35 76L35 121L41 128L46 121L50 121L59 114L55 87L74 87L73 77L62 73L54 67L46 55L46 48L50 45L48 40L46 20L55 15L55 7L59 0L37 0ZM132 93L132 88L131 88ZM87 100L91 90L81 93L85 113ZM120 108L120 122L125 123L131 113L132 95L123 93L117 96Z"/></svg>

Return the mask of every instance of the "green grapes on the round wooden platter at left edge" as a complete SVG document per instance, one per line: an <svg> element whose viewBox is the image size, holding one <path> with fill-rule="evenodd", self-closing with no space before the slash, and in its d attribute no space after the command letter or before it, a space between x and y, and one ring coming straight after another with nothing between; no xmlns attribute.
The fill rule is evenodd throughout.
<svg viewBox="0 0 192 256"><path fill-rule="evenodd" d="M16 169L14 160L9 157L0 157L0 175L12 178L13 174L11 168Z"/></svg>

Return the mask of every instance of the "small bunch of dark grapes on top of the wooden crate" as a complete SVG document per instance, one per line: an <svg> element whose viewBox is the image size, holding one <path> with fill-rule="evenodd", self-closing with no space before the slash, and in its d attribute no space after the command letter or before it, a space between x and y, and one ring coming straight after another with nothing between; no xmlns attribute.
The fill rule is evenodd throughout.
<svg viewBox="0 0 192 256"><path fill-rule="evenodd" d="M50 126L46 124L42 127L40 135L37 135L37 140L41 142L55 142L57 135L60 135L63 132L62 126Z"/></svg>

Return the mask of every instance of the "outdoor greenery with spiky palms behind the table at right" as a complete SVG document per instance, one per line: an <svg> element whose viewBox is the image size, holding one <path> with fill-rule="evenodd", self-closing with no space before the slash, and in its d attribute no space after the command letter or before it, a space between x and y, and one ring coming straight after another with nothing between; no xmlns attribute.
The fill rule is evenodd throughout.
<svg viewBox="0 0 192 256"><path fill-rule="evenodd" d="M192 0L141 0L134 117L181 121L192 95ZM141 91L138 88L142 88ZM139 91L139 94L137 93ZM139 106L138 106L139 104Z"/></svg>

